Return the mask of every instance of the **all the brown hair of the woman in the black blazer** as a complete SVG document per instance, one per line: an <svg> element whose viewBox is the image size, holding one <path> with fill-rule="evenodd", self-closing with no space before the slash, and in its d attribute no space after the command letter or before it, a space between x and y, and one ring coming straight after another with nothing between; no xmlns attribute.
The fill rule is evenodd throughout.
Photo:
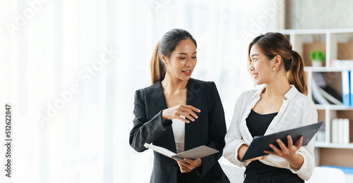
<svg viewBox="0 0 353 183"><path fill-rule="evenodd" d="M191 39L197 48L197 44L193 36L186 30L173 29L166 32L162 39L157 42L155 50L153 51L150 68L151 68L151 82L155 84L156 82L162 81L165 77L165 66L160 54L169 58L172 51L179 44L181 40Z"/></svg>

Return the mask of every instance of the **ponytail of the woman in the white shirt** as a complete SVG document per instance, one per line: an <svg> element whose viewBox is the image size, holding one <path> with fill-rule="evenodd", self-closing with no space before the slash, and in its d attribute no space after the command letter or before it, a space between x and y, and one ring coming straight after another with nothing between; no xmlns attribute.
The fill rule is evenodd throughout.
<svg viewBox="0 0 353 183"><path fill-rule="evenodd" d="M308 85L304 72L304 60L297 51L292 52L292 66L288 73L289 84L294 84L302 94L308 94Z"/></svg>

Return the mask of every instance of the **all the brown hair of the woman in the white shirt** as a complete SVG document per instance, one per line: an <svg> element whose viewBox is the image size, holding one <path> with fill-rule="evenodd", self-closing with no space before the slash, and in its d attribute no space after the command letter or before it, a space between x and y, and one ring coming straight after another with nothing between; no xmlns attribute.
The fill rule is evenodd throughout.
<svg viewBox="0 0 353 183"><path fill-rule="evenodd" d="M284 68L287 72L289 84L294 84L294 87L302 94L308 94L303 58L297 51L292 50L292 44L283 34L268 32L253 39L249 44L249 66L251 65L250 51L254 44L269 60L272 60L277 55L281 56L280 68Z"/></svg>

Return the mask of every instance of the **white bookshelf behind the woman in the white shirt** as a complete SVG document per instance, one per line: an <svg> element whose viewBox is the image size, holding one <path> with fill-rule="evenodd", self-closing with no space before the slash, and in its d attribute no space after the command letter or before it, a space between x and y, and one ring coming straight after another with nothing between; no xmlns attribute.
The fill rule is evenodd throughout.
<svg viewBox="0 0 353 183"><path fill-rule="evenodd" d="M305 62L304 70L308 79L308 96L313 99L314 73L320 73L327 85L342 95L342 71L346 67L333 67L331 61L353 60L353 28L351 29L319 29L319 30L275 30L281 32L292 43ZM321 49L325 53L325 61L321 67L312 67L309 53L312 49ZM353 68L348 70L353 71ZM352 73L352 72L351 72ZM353 100L353 99L352 99ZM324 140L316 141L317 165L334 165L353 167L353 143L333 143L332 124L334 118L348 118L353 126L353 106L337 104L316 104L318 120L324 121ZM349 133L353 135L353 127Z"/></svg>

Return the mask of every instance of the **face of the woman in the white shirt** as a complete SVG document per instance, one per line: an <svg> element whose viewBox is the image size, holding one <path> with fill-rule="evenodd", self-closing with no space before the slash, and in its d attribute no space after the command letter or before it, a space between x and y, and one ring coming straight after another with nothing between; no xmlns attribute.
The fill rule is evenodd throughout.
<svg viewBox="0 0 353 183"><path fill-rule="evenodd" d="M258 46L254 44L250 51L251 65L249 70L251 75L253 75L253 80L255 84L265 84L273 79L275 67L275 58L268 60L265 54L258 50Z"/></svg>

